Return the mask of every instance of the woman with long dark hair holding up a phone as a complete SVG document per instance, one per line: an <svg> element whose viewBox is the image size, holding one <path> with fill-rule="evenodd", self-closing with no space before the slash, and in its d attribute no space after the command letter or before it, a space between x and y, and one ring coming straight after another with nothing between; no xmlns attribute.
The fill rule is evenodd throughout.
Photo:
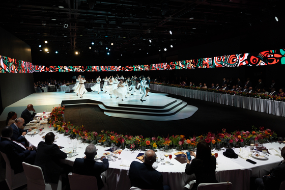
<svg viewBox="0 0 285 190"><path fill-rule="evenodd" d="M217 183L216 180L216 158L211 155L209 145L202 141L197 144L197 152L190 152L195 159L190 161L187 159L185 173L187 175L195 174L196 182L191 189L197 189L200 183Z"/></svg>

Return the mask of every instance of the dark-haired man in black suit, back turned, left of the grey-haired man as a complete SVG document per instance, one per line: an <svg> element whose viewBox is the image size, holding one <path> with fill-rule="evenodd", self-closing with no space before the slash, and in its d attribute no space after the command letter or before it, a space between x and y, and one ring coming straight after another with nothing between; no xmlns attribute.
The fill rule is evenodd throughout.
<svg viewBox="0 0 285 190"><path fill-rule="evenodd" d="M53 132L47 133L45 142L42 141L38 144L35 165L41 167L45 182L58 183L60 175L66 172L65 165L60 164L60 159L65 159L67 155L53 142Z"/></svg>

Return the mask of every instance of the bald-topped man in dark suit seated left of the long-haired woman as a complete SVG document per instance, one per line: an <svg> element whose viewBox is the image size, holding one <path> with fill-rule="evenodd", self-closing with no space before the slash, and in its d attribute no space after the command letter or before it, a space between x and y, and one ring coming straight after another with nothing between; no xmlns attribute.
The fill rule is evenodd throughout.
<svg viewBox="0 0 285 190"><path fill-rule="evenodd" d="M156 154L153 150L148 150L144 155L144 163L133 161L129 170L131 186L146 189L170 189L162 184L162 174L152 168L156 161Z"/></svg>

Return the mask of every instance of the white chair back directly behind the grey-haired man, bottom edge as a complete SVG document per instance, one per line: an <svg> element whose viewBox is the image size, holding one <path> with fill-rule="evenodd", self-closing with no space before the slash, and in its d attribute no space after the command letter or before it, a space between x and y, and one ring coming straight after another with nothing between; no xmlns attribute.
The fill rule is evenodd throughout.
<svg viewBox="0 0 285 190"><path fill-rule="evenodd" d="M75 173L68 174L70 190L98 190L95 176L86 176Z"/></svg>

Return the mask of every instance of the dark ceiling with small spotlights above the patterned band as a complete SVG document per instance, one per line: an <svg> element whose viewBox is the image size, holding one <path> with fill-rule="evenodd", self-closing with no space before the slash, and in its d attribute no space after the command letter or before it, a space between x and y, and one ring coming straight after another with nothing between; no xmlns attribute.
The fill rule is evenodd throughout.
<svg viewBox="0 0 285 190"><path fill-rule="evenodd" d="M139 59L284 17L281 0L8 0L1 8L0 26L31 46L34 64Z"/></svg>

